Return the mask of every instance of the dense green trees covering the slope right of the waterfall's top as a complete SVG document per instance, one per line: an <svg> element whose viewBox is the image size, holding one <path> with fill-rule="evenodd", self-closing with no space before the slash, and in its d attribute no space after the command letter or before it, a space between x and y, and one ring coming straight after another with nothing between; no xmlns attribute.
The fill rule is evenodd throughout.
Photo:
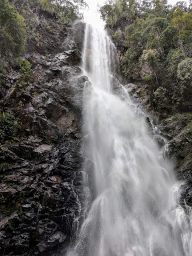
<svg viewBox="0 0 192 256"><path fill-rule="evenodd" d="M100 9L127 81L147 83L158 111L192 110L192 9L185 2L116 0Z"/></svg>

